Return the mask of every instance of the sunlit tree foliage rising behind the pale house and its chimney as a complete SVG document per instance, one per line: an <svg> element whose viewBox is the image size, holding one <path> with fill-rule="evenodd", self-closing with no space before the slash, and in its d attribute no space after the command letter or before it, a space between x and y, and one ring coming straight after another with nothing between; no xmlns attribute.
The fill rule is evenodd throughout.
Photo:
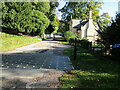
<svg viewBox="0 0 120 90"><path fill-rule="evenodd" d="M88 19L89 9L93 10L93 19L96 20L99 16L99 11L102 7L102 2L95 0L86 0L84 2L67 2L66 5L60 9L63 13L62 18L69 21L72 15L73 19Z"/></svg>

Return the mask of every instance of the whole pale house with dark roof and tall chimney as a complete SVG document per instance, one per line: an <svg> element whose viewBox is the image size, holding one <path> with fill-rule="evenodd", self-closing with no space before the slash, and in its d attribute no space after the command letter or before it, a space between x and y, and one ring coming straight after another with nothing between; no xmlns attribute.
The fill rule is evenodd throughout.
<svg viewBox="0 0 120 90"><path fill-rule="evenodd" d="M95 41L99 38L97 30L101 30L99 23L93 22L92 11L89 12L88 20L71 20L70 30L78 33L79 38Z"/></svg>

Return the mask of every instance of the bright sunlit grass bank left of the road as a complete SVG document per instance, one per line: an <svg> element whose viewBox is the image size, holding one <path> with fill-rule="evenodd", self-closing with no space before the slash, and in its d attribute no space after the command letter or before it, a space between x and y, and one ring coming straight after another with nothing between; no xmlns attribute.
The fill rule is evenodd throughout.
<svg viewBox="0 0 120 90"><path fill-rule="evenodd" d="M37 37L23 37L23 36L16 36L16 35L5 34L5 33L0 33L0 36L1 36L0 51L2 52L40 41L38 40Z"/></svg>

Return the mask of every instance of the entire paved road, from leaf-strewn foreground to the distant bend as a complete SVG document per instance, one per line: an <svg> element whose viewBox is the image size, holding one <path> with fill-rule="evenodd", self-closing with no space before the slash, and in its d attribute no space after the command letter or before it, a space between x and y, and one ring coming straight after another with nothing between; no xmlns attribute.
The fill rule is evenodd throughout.
<svg viewBox="0 0 120 90"><path fill-rule="evenodd" d="M74 69L69 58L62 53L65 48L70 47L50 40L3 53L0 68L3 87L57 87L58 77L64 73L63 70ZM14 84L8 84L13 81Z"/></svg>

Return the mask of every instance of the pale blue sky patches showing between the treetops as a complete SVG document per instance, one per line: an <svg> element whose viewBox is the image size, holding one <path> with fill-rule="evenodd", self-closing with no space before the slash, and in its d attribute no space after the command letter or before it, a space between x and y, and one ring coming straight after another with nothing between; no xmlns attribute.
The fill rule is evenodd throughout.
<svg viewBox="0 0 120 90"><path fill-rule="evenodd" d="M63 0L58 0L59 1L59 6L56 9L58 19L61 19L62 13L58 11L58 9L61 9L65 5L65 1ZM102 5L102 9L100 10L100 15L102 13L108 12L110 17L115 18L116 12L118 12L118 1L119 0L102 0L104 4Z"/></svg>

